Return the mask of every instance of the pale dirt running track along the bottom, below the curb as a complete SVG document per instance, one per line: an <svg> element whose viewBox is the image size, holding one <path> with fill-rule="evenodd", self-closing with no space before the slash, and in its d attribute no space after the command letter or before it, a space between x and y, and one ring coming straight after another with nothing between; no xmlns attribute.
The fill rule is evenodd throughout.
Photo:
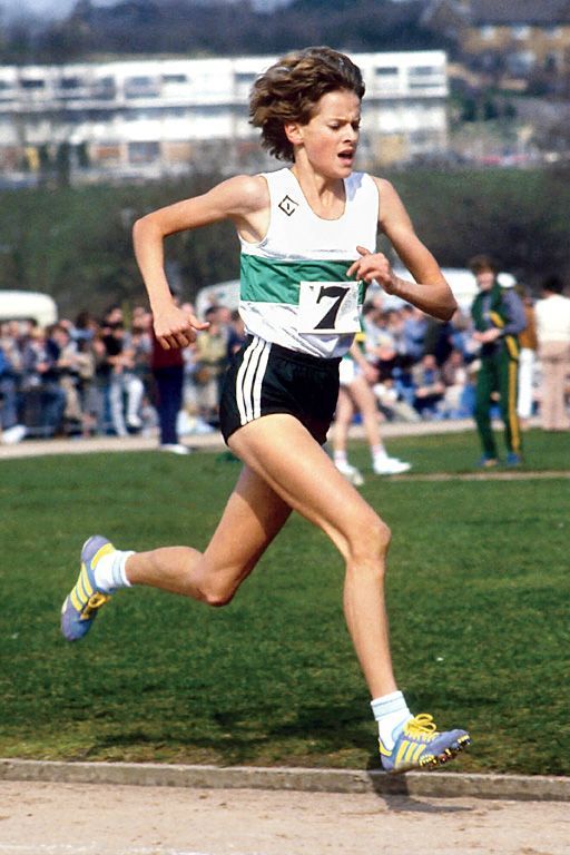
<svg viewBox="0 0 570 855"><path fill-rule="evenodd" d="M564 803L0 782L0 855L568 855Z"/></svg>

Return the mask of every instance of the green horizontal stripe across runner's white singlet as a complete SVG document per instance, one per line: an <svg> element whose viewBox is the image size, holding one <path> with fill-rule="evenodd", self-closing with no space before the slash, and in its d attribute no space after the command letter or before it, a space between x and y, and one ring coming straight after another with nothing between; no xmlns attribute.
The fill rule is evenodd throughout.
<svg viewBox="0 0 570 855"><path fill-rule="evenodd" d="M242 255L240 297L253 303L298 304L299 282L351 282L346 271L353 259L338 262L274 262L255 255ZM364 283L360 298L364 299Z"/></svg>

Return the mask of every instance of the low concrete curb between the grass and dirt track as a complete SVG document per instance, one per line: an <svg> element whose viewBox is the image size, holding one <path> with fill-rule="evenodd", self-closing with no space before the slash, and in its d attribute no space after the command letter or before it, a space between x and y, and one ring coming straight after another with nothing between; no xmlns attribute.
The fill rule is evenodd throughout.
<svg viewBox="0 0 570 855"><path fill-rule="evenodd" d="M383 772L361 769L0 759L0 780L570 802L570 778L566 777L481 775L441 770L432 774L410 772L391 776Z"/></svg>

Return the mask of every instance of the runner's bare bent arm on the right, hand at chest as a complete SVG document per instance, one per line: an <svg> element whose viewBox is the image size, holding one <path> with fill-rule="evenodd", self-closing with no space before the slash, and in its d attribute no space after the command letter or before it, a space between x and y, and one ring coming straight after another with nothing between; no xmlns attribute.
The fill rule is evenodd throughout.
<svg viewBox="0 0 570 855"><path fill-rule="evenodd" d="M415 282L400 278L385 255L370 253L362 246L357 247L361 258L348 268L348 275L366 282L375 279L387 294L394 294L441 321L449 321L456 303L438 262L415 234L394 187L385 179L374 180L380 194L380 227Z"/></svg>

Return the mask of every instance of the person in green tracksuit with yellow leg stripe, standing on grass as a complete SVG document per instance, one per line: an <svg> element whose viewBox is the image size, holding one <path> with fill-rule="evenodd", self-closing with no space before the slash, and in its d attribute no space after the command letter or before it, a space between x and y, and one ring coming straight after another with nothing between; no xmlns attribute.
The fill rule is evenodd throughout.
<svg viewBox="0 0 570 855"><path fill-rule="evenodd" d="M481 345L481 367L476 379L475 422L481 440L480 465L497 466L499 458L491 425L494 395L499 394L501 417L504 422L507 464L521 463L521 430L517 414L519 382L519 338L527 326L524 307L517 292L501 285L498 265L488 255L476 255L469 262L479 294L471 306L475 332L473 338Z"/></svg>

